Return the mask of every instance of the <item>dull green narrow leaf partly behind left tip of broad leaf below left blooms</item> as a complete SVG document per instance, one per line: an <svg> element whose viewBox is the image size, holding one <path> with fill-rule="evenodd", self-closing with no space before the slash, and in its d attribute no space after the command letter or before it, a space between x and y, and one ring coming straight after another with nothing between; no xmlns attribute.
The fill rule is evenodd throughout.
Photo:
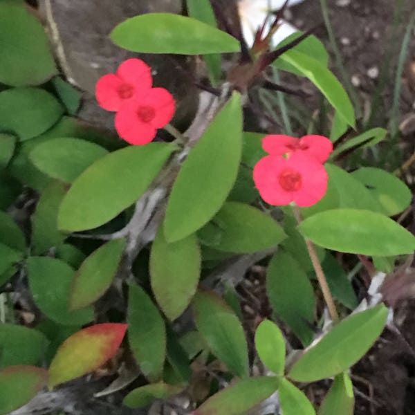
<svg viewBox="0 0 415 415"><path fill-rule="evenodd" d="M61 245L66 235L57 229L57 211L66 194L66 185L50 183L42 192L32 216L31 245L33 254L39 255L49 248Z"/></svg>

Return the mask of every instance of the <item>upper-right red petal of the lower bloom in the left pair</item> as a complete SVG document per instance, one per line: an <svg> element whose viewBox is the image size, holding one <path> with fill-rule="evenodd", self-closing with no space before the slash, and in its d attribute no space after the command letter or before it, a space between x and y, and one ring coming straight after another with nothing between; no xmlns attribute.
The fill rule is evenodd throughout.
<svg viewBox="0 0 415 415"><path fill-rule="evenodd" d="M176 103L172 94L164 88L150 89L149 93L142 100L142 104L154 107L156 110L156 115L150 122L156 128L161 128L168 124L176 110Z"/></svg>

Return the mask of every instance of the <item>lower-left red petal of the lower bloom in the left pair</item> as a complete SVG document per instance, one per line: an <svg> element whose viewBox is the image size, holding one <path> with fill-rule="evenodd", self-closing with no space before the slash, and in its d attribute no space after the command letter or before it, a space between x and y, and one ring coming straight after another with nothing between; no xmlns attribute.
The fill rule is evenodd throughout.
<svg viewBox="0 0 415 415"><path fill-rule="evenodd" d="M140 104L136 101L126 102L116 113L116 130L118 135L132 145L145 145L156 137L157 130L148 122L138 118Z"/></svg>

